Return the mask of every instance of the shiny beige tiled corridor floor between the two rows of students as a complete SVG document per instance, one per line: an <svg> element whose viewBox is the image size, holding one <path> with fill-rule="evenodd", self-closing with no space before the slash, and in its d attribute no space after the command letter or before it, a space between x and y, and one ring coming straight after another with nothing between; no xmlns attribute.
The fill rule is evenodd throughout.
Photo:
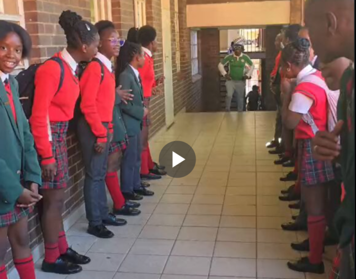
<svg viewBox="0 0 356 279"><path fill-rule="evenodd" d="M290 248L305 234L282 231L291 218L278 200L279 181L289 170L276 167L265 143L273 113L187 113L154 137L154 157L169 142L190 144L196 167L184 178L152 183L143 214L99 240L85 233L82 218L68 232L73 247L91 257L78 275L43 274L38 279L319 279L290 271ZM331 251L332 252L332 251ZM330 258L330 257L329 257Z"/></svg>

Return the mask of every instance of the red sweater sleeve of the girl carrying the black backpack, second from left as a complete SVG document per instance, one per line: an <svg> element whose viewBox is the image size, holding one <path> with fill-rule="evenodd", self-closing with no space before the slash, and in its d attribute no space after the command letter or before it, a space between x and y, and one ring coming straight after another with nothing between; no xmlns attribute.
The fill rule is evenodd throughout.
<svg viewBox="0 0 356 279"><path fill-rule="evenodd" d="M40 66L35 76L35 96L30 125L35 146L42 159L42 165L52 164L55 158L52 153L49 125L49 107L55 96L60 81L60 66L55 61L47 61Z"/></svg>

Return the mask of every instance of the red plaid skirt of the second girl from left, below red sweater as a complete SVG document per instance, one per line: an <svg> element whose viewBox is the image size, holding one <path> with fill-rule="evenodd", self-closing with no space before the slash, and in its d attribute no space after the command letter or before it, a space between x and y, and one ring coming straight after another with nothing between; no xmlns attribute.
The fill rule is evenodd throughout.
<svg viewBox="0 0 356 279"><path fill-rule="evenodd" d="M52 152L57 163L57 175L52 181L42 181L41 189L63 189L69 181L66 133L68 122L51 122Z"/></svg>

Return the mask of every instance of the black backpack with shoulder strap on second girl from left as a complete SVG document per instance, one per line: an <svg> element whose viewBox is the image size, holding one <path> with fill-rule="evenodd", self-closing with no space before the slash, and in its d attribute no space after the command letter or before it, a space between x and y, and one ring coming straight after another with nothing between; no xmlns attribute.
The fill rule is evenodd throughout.
<svg viewBox="0 0 356 279"><path fill-rule="evenodd" d="M56 94L59 92L60 88L63 85L64 80L64 65L63 61L59 57L52 57L48 60L56 61L60 66L60 80ZM47 60L47 61L48 61ZM44 62L46 63L46 62ZM33 100L35 96L35 76L37 69L44 63L33 64L27 69L22 71L16 76L18 82L18 94L21 105L24 109L27 119L30 119L32 114Z"/></svg>

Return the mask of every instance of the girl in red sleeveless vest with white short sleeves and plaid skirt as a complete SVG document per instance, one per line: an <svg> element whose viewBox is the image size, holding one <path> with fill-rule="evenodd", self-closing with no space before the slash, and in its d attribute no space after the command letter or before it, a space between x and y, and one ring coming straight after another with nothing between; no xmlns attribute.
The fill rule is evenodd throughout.
<svg viewBox="0 0 356 279"><path fill-rule="evenodd" d="M327 130L327 85L309 62L310 42L304 38L288 44L282 51L282 73L296 79L297 86L284 96L283 124L295 130L298 142L299 176L302 198L308 214L309 256L288 267L299 272L324 273L322 261L326 229L327 184L334 180L331 162L312 156L311 140L317 131Z"/></svg>

